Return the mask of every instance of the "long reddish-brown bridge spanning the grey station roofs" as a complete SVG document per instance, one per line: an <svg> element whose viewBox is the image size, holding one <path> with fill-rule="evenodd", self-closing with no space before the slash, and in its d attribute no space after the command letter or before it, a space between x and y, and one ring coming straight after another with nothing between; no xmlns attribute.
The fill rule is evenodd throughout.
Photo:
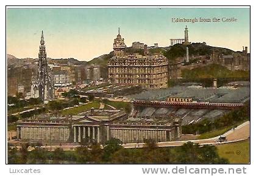
<svg viewBox="0 0 256 176"><path fill-rule="evenodd" d="M190 109L238 109L243 103L197 103L197 102L168 102L168 101L131 101L133 106L141 107L176 107Z"/></svg>

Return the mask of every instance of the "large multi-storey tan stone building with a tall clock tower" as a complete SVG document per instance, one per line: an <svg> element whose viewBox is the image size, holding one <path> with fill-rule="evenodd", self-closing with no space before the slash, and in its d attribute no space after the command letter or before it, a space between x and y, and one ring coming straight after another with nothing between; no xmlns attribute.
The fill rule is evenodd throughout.
<svg viewBox="0 0 256 176"><path fill-rule="evenodd" d="M114 40L114 56L108 62L108 82L138 85L143 88L167 87L168 59L163 55L126 55L124 39L118 33Z"/></svg>

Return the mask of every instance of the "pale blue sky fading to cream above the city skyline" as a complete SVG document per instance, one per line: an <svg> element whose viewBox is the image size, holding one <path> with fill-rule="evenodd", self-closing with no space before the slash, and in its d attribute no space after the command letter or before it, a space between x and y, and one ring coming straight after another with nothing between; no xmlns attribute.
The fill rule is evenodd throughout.
<svg viewBox="0 0 256 176"><path fill-rule="evenodd" d="M171 18L237 18L237 22L171 22ZM249 47L249 8L9 8L7 53L37 58L40 33L51 58L90 60L110 52L118 27L126 46L140 41L169 46L183 38L185 25L191 42L241 50Z"/></svg>

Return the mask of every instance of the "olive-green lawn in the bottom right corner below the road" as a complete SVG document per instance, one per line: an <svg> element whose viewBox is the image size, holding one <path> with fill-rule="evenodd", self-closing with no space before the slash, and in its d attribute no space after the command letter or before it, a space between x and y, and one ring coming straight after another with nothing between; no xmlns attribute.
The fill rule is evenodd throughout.
<svg viewBox="0 0 256 176"><path fill-rule="evenodd" d="M247 164L250 161L250 141L220 144L217 146L218 154L229 160L230 164Z"/></svg>

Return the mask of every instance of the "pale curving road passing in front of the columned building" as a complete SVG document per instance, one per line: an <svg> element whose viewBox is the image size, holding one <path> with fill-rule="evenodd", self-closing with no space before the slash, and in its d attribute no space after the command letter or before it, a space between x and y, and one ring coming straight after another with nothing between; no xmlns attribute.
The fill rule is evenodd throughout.
<svg viewBox="0 0 256 176"><path fill-rule="evenodd" d="M207 138L204 140L186 140L186 141L168 141L168 142L160 142L157 143L158 147L174 147L174 146L182 146L183 144L191 141L193 143L199 143L201 145L205 144L224 144L224 143L233 143L236 141L246 140L250 137L250 122L246 121L245 123L241 124L240 126L236 127L234 130L231 129L227 131L225 134L221 135L222 137L226 137L227 141L225 142L219 142L216 141L219 136L214 138ZM129 143L129 144L122 144L124 148L138 148L143 147L144 143ZM47 148L48 150L54 150L57 147L62 147L64 151L73 151L77 146L69 145L69 146L42 146L44 148ZM30 147L29 151L31 151L33 148Z"/></svg>

